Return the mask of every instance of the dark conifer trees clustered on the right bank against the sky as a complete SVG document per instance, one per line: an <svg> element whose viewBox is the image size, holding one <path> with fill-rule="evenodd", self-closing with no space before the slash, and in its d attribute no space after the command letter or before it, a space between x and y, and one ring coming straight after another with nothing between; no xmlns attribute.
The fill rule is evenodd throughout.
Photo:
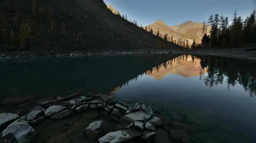
<svg viewBox="0 0 256 143"><path fill-rule="evenodd" d="M256 11L254 10L245 20L238 16L235 9L232 23L223 14L211 14L202 25L202 40L197 48L227 48L242 47L256 43ZM209 28L208 28L209 27ZM210 28L211 27L211 28ZM208 32L210 34L208 34Z"/></svg>

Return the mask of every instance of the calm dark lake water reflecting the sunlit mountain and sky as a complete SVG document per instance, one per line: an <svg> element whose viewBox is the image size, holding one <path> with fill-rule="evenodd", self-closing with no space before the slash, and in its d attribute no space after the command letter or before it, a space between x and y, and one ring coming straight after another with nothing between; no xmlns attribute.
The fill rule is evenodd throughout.
<svg viewBox="0 0 256 143"><path fill-rule="evenodd" d="M0 62L0 112L26 113L72 92L113 92L156 114L210 127L191 140L256 142L256 63L214 56L141 55Z"/></svg>

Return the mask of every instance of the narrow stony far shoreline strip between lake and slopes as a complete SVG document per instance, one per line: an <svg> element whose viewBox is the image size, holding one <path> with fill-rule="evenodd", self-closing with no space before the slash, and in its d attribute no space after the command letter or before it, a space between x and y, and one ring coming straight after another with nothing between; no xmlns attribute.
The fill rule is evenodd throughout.
<svg viewBox="0 0 256 143"><path fill-rule="evenodd" d="M23 52L0 52L0 61L7 60L35 60L37 58L80 58L88 56L126 56L138 54L191 54L201 56L221 56L256 62L256 51L243 49L184 49L184 50L109 50L109 51L23 51Z"/></svg>

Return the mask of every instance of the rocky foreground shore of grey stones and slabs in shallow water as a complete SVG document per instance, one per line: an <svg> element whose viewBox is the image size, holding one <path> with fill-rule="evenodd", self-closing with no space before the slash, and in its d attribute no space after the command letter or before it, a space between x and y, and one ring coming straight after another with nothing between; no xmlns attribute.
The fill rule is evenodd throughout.
<svg viewBox="0 0 256 143"><path fill-rule="evenodd" d="M24 115L1 113L0 143L37 142L40 132L34 127L48 120L57 120L61 124L63 118L71 118L74 114L83 114L82 122L89 123L82 129L70 129L72 123L66 123L70 138L61 142L74 142L75 139L86 143L190 143L190 134L209 129L208 125L186 114L173 115L166 121L143 103L132 105L116 100L114 94L86 92L41 102ZM81 135L79 139L73 138L77 135ZM49 139L46 142L51 142Z"/></svg>

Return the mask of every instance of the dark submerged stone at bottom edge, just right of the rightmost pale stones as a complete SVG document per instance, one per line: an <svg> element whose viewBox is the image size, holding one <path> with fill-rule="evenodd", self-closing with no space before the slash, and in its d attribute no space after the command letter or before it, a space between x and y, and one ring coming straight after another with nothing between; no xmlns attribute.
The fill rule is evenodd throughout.
<svg viewBox="0 0 256 143"><path fill-rule="evenodd" d="M155 143L178 143L178 141L173 140L168 132L165 132L163 129L156 131L156 136L153 138Z"/></svg>

